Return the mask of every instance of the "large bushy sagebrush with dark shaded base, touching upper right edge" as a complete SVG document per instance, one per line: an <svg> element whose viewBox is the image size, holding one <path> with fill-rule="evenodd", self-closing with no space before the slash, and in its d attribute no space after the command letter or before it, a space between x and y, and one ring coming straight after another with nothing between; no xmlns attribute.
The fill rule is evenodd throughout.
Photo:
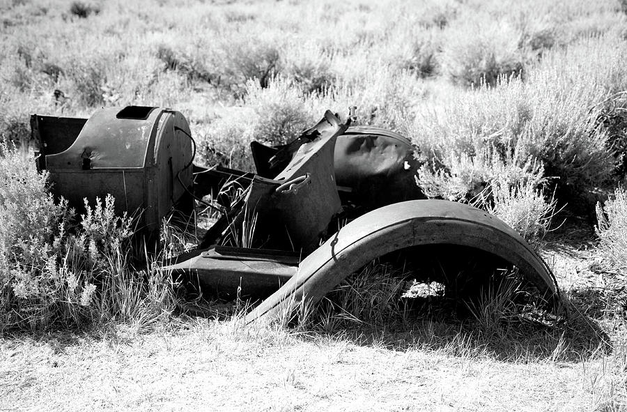
<svg viewBox="0 0 627 412"><path fill-rule="evenodd" d="M585 191L612 174L607 128L599 127L608 96L627 86L620 63L627 48L590 39L545 54L525 85L529 116L522 153L539 158L547 176Z"/></svg>

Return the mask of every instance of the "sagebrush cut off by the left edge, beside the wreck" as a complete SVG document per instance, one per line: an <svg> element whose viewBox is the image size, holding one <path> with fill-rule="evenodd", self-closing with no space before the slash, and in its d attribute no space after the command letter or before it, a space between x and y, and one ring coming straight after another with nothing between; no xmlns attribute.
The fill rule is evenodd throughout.
<svg viewBox="0 0 627 412"><path fill-rule="evenodd" d="M47 176L33 173L27 156L0 142L0 323L36 328L54 317L56 291L63 282L55 239L68 211L54 202Z"/></svg>

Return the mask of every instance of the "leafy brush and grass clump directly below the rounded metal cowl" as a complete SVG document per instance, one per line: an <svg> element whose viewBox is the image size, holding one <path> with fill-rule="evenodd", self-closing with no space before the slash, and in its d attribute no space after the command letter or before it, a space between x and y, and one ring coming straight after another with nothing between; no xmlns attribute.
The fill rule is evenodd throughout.
<svg viewBox="0 0 627 412"><path fill-rule="evenodd" d="M131 238L133 220L126 213L116 215L114 203L110 194L97 197L93 206L85 200L80 227L63 245L61 270L82 275L83 284L93 285L91 304L80 302L86 306L86 321L150 326L167 319L176 305L172 280L159 270L159 257L151 257L141 250L139 239ZM138 263L140 257L144 261Z"/></svg>

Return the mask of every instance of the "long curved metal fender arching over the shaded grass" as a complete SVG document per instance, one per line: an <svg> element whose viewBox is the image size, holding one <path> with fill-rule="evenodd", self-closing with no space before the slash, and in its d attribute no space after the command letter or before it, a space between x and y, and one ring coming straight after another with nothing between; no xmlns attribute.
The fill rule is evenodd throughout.
<svg viewBox="0 0 627 412"><path fill-rule="evenodd" d="M412 200L366 213L340 229L298 266L291 280L246 316L292 316L302 304L316 303L351 273L384 254L431 244L474 247L518 267L545 296L557 303L559 289L547 264L502 220L473 206L445 200Z"/></svg>

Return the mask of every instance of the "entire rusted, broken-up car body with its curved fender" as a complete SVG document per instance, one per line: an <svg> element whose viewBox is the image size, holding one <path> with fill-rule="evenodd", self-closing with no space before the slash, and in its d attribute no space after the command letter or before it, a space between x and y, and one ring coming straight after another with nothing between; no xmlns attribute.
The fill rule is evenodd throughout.
<svg viewBox="0 0 627 412"><path fill-rule="evenodd" d="M221 217L194 252L164 270L204 291L267 297L247 321L275 319L315 303L391 252L420 259L421 245L490 254L516 266L548 301L559 300L550 268L504 222L472 206L424 199L415 183L413 148L394 132L350 127L327 111L290 144L251 144L258 170L253 174L190 167L187 122L165 109L102 109L87 121L33 115L31 123L43 148L38 164L49 170L56 194L82 199L110 190L125 210L144 210L148 228L166 208L189 211L194 197L213 194L212 207ZM72 125L75 136L65 144L53 142L54 132L43 132L64 125ZM121 155L124 148L135 153L132 165ZM132 173L140 177L131 181ZM237 194L221 199L225 185L236 185Z"/></svg>

